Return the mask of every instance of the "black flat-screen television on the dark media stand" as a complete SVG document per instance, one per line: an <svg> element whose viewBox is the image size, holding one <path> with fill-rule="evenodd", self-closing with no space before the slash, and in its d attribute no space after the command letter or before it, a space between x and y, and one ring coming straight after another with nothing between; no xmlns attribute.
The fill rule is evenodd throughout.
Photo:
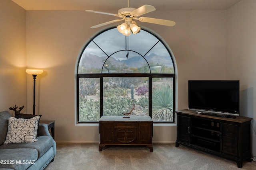
<svg viewBox="0 0 256 170"><path fill-rule="evenodd" d="M188 80L188 109L239 116L239 80Z"/></svg>

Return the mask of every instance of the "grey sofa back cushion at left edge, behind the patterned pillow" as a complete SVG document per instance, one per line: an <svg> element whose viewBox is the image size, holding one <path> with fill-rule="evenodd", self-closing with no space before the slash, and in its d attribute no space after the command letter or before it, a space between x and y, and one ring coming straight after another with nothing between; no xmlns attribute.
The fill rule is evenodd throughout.
<svg viewBox="0 0 256 170"><path fill-rule="evenodd" d="M11 117L9 111L0 112L0 145L4 143L6 138L9 117Z"/></svg>

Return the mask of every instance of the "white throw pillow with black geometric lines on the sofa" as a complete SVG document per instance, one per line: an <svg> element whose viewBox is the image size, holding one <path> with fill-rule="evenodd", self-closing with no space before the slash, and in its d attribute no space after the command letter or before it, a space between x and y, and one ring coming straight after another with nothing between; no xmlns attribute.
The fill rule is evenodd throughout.
<svg viewBox="0 0 256 170"><path fill-rule="evenodd" d="M38 129L40 116L31 119L17 119L10 117L8 119L8 132L4 145L10 143L32 143L38 141L36 133Z"/></svg>

